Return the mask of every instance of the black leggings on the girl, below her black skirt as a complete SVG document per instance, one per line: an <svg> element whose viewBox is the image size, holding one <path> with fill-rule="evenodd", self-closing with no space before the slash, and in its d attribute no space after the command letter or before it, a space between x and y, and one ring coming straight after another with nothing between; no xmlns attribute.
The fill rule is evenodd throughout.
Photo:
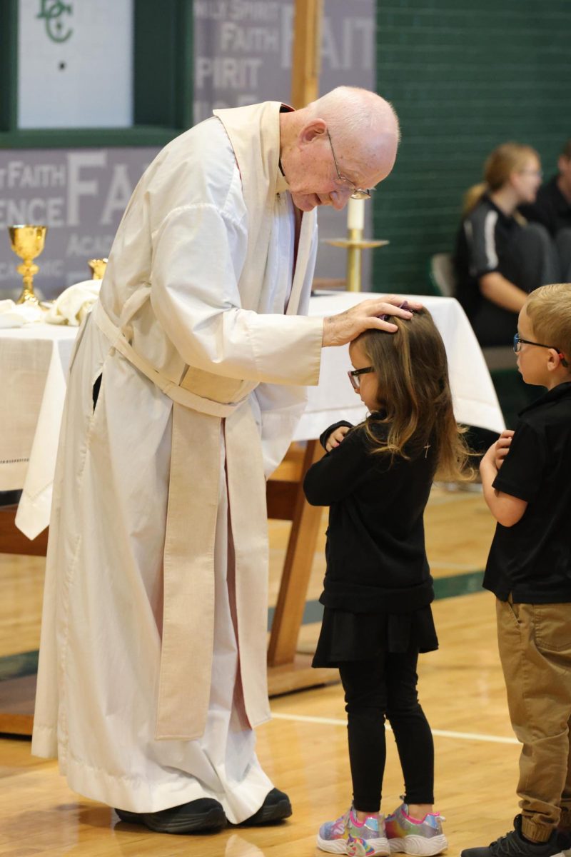
<svg viewBox="0 0 571 857"><path fill-rule="evenodd" d="M416 691L418 656L417 650L386 652L372 661L339 665L347 703L353 802L360 812L378 812L381 806L385 716L401 759L405 803L434 803L434 745Z"/></svg>

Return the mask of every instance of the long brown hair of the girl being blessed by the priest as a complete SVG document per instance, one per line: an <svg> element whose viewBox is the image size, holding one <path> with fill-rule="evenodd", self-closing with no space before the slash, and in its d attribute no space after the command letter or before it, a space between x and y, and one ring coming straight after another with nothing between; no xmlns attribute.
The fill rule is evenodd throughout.
<svg viewBox="0 0 571 857"><path fill-rule="evenodd" d="M396 333L368 330L355 340L375 370L379 408L386 411L380 422L389 426L386 440L379 440L372 424L378 418L367 417L372 452L416 458L427 443L436 443L438 476L467 480L473 470L462 437L466 429L455 421L446 351L432 316L420 309L408 321L396 316L390 321Z"/></svg>

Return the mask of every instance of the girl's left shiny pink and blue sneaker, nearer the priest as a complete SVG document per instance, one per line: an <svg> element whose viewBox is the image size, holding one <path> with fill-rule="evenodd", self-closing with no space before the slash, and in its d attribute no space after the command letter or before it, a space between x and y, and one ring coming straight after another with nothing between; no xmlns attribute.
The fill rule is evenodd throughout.
<svg viewBox="0 0 571 857"><path fill-rule="evenodd" d="M361 822L352 806L341 818L321 825L318 848L330 854L349 854L349 857L388 857L390 848L384 832L384 817L374 812Z"/></svg>

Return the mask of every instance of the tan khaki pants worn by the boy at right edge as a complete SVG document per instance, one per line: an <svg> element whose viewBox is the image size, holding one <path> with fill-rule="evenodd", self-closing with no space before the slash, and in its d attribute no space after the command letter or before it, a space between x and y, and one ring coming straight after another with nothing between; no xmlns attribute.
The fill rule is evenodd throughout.
<svg viewBox="0 0 571 857"><path fill-rule="evenodd" d="M497 640L520 755L521 832L571 829L571 603L497 599Z"/></svg>

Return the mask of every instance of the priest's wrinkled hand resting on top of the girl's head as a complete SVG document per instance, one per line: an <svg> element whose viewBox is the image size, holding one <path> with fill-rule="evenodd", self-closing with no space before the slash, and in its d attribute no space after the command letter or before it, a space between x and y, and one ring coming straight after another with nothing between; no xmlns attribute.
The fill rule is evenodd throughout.
<svg viewBox="0 0 571 857"><path fill-rule="evenodd" d="M365 330L374 327L387 333L396 333L396 324L383 321L380 315L399 315L402 319L409 319L413 315L407 309L401 309L402 295L384 295L372 297L369 300L357 303L356 306L347 309L339 315L330 315L324 319L323 345L346 345L352 339L359 336ZM422 309L422 304L416 301L408 301L411 309Z"/></svg>

